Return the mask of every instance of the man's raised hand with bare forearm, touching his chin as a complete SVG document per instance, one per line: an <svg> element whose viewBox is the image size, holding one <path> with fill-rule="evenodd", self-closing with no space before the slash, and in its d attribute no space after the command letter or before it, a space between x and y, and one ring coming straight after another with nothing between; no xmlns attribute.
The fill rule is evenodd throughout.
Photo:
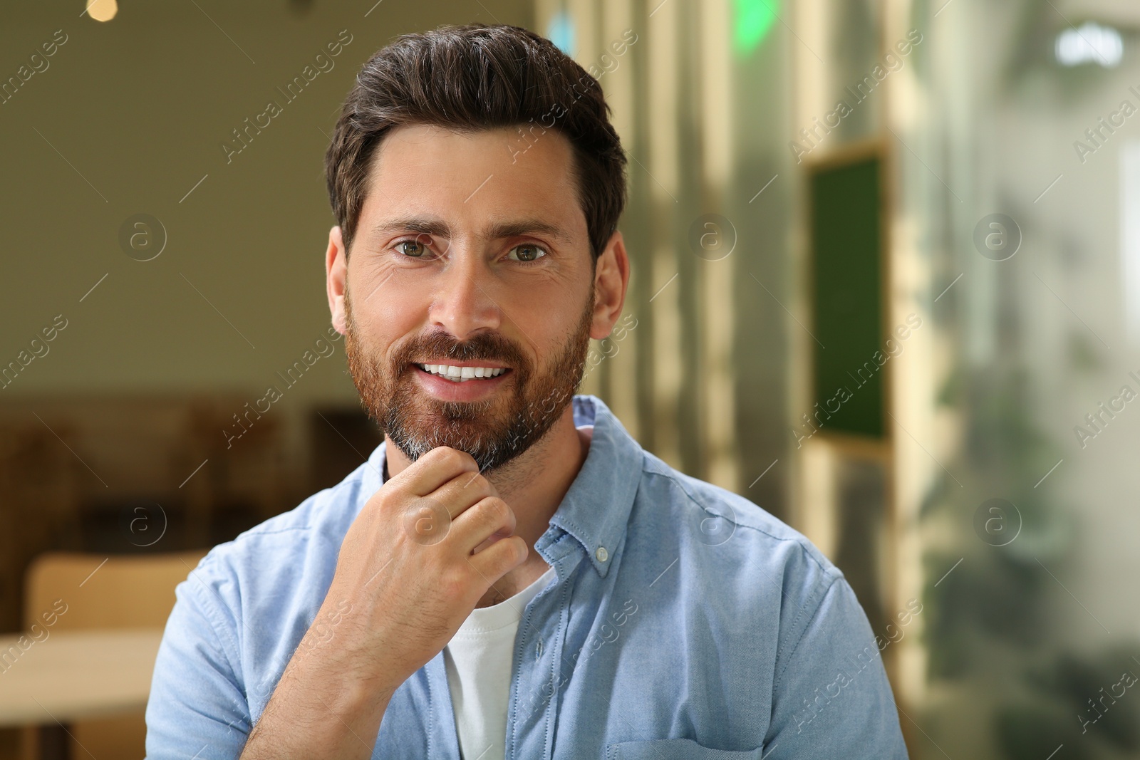
<svg viewBox="0 0 1140 760"><path fill-rule="evenodd" d="M514 526L463 451L432 449L384 483L344 536L325 600L243 760L368 758L392 693L527 559Z"/></svg>

